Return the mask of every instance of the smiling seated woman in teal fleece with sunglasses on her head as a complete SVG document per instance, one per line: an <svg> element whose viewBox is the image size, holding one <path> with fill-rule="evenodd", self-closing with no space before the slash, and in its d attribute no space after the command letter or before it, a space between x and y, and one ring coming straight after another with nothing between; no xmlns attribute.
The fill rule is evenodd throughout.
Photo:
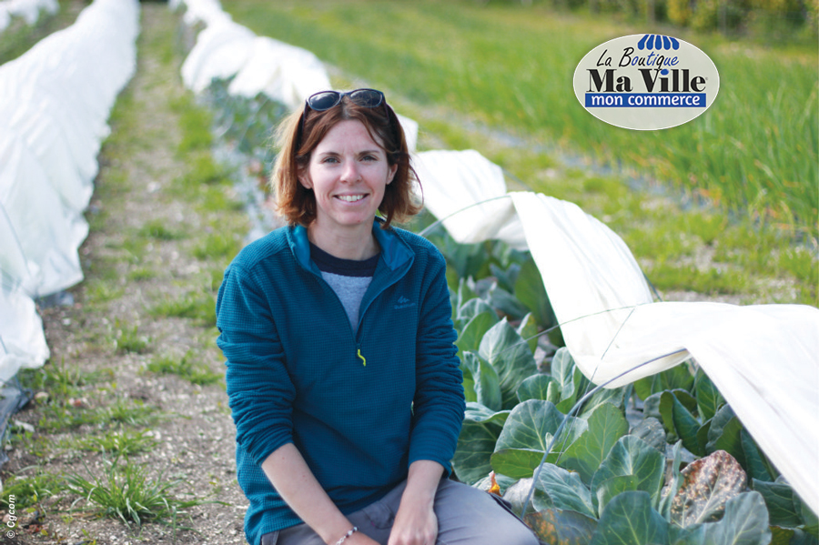
<svg viewBox="0 0 819 545"><path fill-rule="evenodd" d="M310 96L279 145L289 225L242 250L217 300L248 541L537 543L447 479L464 399L446 265L391 227L419 207L383 94Z"/></svg>

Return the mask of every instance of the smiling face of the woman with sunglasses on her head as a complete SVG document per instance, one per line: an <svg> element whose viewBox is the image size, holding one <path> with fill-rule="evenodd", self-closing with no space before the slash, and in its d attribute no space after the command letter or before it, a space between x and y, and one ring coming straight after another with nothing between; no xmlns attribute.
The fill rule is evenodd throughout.
<svg viewBox="0 0 819 545"><path fill-rule="evenodd" d="M317 217L311 227L326 233L357 228L369 232L397 169L360 121L333 126L298 176L316 197Z"/></svg>

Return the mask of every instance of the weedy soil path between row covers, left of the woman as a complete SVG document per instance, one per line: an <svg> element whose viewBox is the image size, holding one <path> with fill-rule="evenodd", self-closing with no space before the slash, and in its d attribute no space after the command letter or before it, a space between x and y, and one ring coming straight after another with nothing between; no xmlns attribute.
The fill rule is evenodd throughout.
<svg viewBox="0 0 819 545"><path fill-rule="evenodd" d="M173 496L213 502L187 509L189 518L180 516L176 529L157 523L138 529L81 510L86 501L76 493L41 494L39 509L18 513L17 535L0 537L8 543L245 542L247 500L236 481L224 379L198 386L148 370L167 357L224 375L213 324L157 308L186 298L205 298L204 307L213 308L217 271L226 262L194 257L201 256L197 248L215 226L246 221L238 207L224 214L203 211L189 201L189 192L179 190L190 167L177 152L182 137L177 103L185 97L181 57L151 53L162 49L157 44L178 42L178 32L177 16L166 4L142 4L136 75L119 98L127 106L100 156L92 229L80 250L86 279L71 291L72 306L41 309L52 356L38 372L41 378L45 370L51 374L52 388L42 388L49 397L41 394L15 415L35 432L13 441L2 477L13 484L42 475L105 476L112 457L89 450L87 441L141 433L155 445L120 457L120 468L146 471L155 484L178 479ZM212 197L220 189L207 191ZM229 199L229 189L222 193ZM55 375L71 383L76 397L57 399Z"/></svg>

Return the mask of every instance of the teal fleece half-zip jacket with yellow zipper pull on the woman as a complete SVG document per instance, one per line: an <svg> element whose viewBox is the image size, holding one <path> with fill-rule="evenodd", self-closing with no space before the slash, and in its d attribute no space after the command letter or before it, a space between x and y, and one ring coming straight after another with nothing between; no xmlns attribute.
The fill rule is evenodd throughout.
<svg viewBox="0 0 819 545"><path fill-rule="evenodd" d="M373 224L379 264L353 333L310 260L307 230L243 249L217 298L248 542L300 524L262 462L293 443L345 514L381 499L410 464L450 469L464 413L446 263L426 239Z"/></svg>

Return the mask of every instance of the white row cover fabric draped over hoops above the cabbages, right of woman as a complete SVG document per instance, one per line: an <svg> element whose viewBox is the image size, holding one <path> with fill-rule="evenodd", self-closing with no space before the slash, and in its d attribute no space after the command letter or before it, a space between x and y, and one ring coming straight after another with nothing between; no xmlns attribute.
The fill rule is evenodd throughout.
<svg viewBox="0 0 819 545"><path fill-rule="evenodd" d="M417 156L426 206L447 218L442 223L460 242L497 238L520 247L522 230L583 374L596 384L616 378L615 388L693 356L819 511L819 309L652 302L631 251L609 227L553 197L512 192L499 199L502 173L476 153Z"/></svg>

